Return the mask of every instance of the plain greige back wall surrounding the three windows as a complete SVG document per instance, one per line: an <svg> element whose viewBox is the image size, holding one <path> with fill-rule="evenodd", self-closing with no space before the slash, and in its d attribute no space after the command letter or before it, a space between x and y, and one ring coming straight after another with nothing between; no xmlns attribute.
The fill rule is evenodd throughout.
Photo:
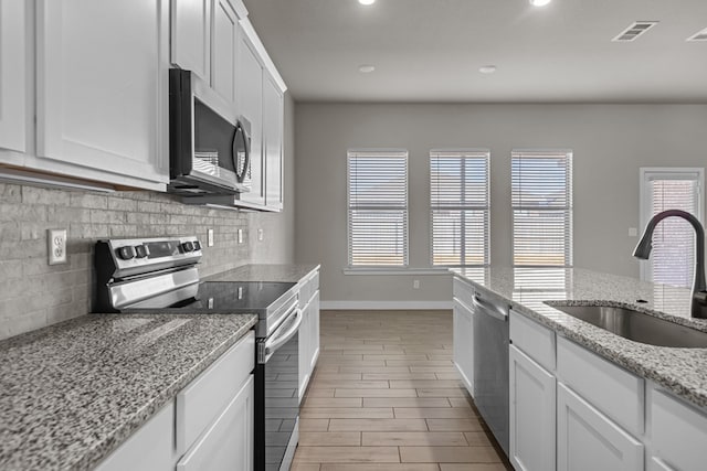
<svg viewBox="0 0 707 471"><path fill-rule="evenodd" d="M447 301L446 276L346 276L346 151L410 152L410 265L429 267L429 151L489 148L490 260L510 265L510 150L570 148L574 266L639 276L640 167L704 167L707 105L297 103L295 259L320 263L328 301ZM412 289L412 279L421 289ZM326 306L326 303L325 303ZM422 306L422 304L421 304Z"/></svg>

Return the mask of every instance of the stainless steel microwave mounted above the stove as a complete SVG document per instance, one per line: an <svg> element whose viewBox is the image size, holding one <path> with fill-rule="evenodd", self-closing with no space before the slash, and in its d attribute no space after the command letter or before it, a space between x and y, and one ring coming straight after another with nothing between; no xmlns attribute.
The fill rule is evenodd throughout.
<svg viewBox="0 0 707 471"><path fill-rule="evenodd" d="M169 71L168 191L198 196L251 190L250 122L190 71Z"/></svg>

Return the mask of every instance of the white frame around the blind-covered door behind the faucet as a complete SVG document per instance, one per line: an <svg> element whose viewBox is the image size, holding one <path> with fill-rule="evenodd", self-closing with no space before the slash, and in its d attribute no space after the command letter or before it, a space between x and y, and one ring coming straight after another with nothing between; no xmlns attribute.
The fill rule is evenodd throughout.
<svg viewBox="0 0 707 471"><path fill-rule="evenodd" d="M695 180L697 182L697 214L695 217L704 225L704 188L705 188L705 168L704 167L641 167L639 169L639 233L641 237L646 224L651 221L653 215L651 214L651 197L648 194L648 176L650 175L664 175L667 178L657 180ZM688 176L696 175L696 179L689 179ZM672 178L669 178L672 176ZM683 176L683 178L680 178ZM653 263L648 260L640 260L640 276L644 281L653 282Z"/></svg>

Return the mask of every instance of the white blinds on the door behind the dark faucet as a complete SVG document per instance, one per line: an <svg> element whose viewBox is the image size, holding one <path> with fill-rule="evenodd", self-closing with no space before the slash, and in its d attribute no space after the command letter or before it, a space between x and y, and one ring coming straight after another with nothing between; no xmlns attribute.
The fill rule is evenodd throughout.
<svg viewBox="0 0 707 471"><path fill-rule="evenodd" d="M683 210L698 216L698 175L648 175L651 214ZM689 288L695 268L695 231L679 217L663 220L653 233L652 280Z"/></svg>

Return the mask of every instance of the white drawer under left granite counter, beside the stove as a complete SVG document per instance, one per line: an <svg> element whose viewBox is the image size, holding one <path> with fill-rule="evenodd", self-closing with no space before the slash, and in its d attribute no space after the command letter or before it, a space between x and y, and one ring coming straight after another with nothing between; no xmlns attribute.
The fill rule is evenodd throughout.
<svg viewBox="0 0 707 471"><path fill-rule="evenodd" d="M182 454L241 389L255 364L251 331L177 395L177 453Z"/></svg>

